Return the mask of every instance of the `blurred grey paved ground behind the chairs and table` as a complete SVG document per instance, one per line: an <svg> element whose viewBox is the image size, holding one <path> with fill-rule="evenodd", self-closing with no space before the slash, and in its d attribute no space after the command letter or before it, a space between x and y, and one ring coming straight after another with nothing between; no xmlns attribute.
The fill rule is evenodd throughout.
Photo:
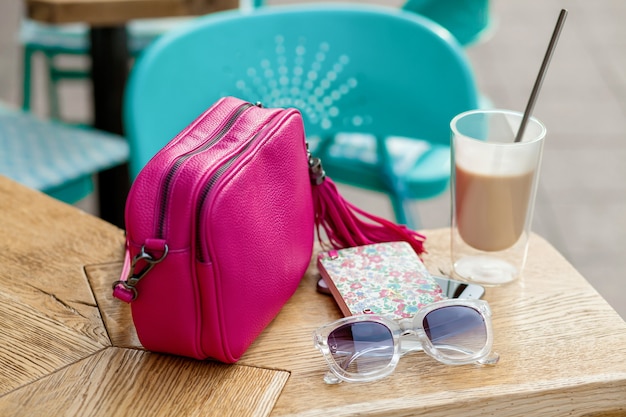
<svg viewBox="0 0 626 417"><path fill-rule="evenodd" d="M269 1L279 2L289 0ZM0 100L13 104L21 97L20 7L18 1L0 2ZM535 109L548 138L533 229L626 318L626 2L494 0L493 32L468 54L495 106L522 111L561 8L569 17ZM45 115L41 73L36 81L35 111ZM67 115L88 118L85 85L67 85L62 94ZM345 192L371 211L390 215L381 196ZM448 198L417 207L423 227L448 225Z"/></svg>

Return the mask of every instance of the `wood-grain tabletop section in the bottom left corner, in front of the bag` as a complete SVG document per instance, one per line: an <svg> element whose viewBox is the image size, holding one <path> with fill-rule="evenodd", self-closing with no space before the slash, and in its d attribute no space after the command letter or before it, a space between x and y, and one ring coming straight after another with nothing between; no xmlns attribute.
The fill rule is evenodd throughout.
<svg viewBox="0 0 626 417"><path fill-rule="evenodd" d="M109 348L0 397L0 410L3 416L264 416L288 377Z"/></svg>

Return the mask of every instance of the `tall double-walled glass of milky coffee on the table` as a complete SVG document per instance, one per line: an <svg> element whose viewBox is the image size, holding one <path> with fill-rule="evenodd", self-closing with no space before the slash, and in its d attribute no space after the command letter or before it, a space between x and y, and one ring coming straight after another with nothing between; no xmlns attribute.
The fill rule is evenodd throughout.
<svg viewBox="0 0 626 417"><path fill-rule="evenodd" d="M516 141L522 116L474 110L450 123L452 264L466 281L505 284L524 268L546 129L530 118Z"/></svg>

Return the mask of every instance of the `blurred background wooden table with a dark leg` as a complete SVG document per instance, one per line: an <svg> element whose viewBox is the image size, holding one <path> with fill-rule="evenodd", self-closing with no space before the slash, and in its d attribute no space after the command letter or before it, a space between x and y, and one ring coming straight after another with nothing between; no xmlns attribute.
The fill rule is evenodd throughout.
<svg viewBox="0 0 626 417"><path fill-rule="evenodd" d="M123 135L122 101L128 75L125 24L132 19L192 16L236 8L238 0L24 0L26 16L48 24L91 26L94 127ZM124 227L128 165L99 174L100 217Z"/></svg>

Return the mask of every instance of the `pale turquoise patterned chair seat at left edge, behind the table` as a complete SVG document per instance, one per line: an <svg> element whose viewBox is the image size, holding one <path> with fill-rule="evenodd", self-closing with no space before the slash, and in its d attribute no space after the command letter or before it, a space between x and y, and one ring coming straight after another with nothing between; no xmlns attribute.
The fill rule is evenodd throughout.
<svg viewBox="0 0 626 417"><path fill-rule="evenodd" d="M93 191L94 174L127 160L122 137L0 105L0 175L27 187L75 203Z"/></svg>

